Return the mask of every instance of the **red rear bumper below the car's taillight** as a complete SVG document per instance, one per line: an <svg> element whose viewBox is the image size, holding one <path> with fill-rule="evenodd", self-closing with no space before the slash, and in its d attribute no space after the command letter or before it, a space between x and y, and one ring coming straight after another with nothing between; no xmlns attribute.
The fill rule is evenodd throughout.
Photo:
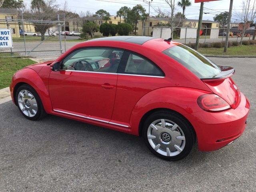
<svg viewBox="0 0 256 192"><path fill-rule="evenodd" d="M241 94L241 102L236 109L223 112L200 111L186 118L196 131L200 151L218 150L242 135L246 127L250 103Z"/></svg>

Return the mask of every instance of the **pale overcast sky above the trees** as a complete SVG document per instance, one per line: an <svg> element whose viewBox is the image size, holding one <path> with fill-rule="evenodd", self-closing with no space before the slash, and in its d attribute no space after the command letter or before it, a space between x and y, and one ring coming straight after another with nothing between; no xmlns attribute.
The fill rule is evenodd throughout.
<svg viewBox="0 0 256 192"><path fill-rule="evenodd" d="M147 0L149 1L149 0ZM177 4L179 0L175 0ZM234 0L233 1L233 11L232 11L232 21L239 22L238 17L235 15L235 10L239 11L240 4L242 0ZM30 4L31 0L24 0L25 4ZM56 0L57 4L63 5L65 0ZM200 11L200 3L194 3L194 0L190 0L192 6L189 6L185 9L185 16L188 19L198 19L199 11ZM110 15L116 15L116 11L118 11L122 6L128 6L132 8L137 4L141 4L146 9L148 13L148 4L143 2L143 0L70 0L68 1L68 8L72 12L76 12L80 14L80 12L86 12L89 10L92 13L95 13L99 9L104 9L110 13ZM224 11L229 11L230 0L217 0L212 2L204 3L204 12L203 20L213 20L213 17L216 14L220 14ZM170 10L170 7L164 0L153 0L150 7L150 16L155 16L158 13L155 11L161 8L162 11ZM182 8L176 6L176 12L182 12Z"/></svg>

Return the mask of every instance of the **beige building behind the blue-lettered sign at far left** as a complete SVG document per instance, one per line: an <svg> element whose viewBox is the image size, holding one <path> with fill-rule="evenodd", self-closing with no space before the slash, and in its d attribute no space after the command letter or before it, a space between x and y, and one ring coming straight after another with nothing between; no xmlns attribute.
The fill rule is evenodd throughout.
<svg viewBox="0 0 256 192"><path fill-rule="evenodd" d="M0 28L9 28L12 31L12 37L20 37L19 24L14 22L13 19L18 19L16 9L0 8Z"/></svg>

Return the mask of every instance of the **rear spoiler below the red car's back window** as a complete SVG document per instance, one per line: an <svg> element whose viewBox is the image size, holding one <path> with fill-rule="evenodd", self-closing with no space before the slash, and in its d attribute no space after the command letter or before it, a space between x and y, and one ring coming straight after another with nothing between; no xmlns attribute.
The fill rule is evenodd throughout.
<svg viewBox="0 0 256 192"><path fill-rule="evenodd" d="M219 74L217 74L216 76L213 76L212 78L202 78L201 80L204 82L221 81L232 76L235 73L235 69L230 66L219 66L219 67L221 68L221 72Z"/></svg>

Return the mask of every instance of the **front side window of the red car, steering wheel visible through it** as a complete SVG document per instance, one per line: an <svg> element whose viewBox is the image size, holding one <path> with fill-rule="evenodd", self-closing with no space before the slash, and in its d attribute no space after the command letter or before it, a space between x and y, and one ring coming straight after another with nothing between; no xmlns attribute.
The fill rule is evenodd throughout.
<svg viewBox="0 0 256 192"><path fill-rule="evenodd" d="M124 51L110 48L82 48L62 60L62 70L116 73Z"/></svg>

